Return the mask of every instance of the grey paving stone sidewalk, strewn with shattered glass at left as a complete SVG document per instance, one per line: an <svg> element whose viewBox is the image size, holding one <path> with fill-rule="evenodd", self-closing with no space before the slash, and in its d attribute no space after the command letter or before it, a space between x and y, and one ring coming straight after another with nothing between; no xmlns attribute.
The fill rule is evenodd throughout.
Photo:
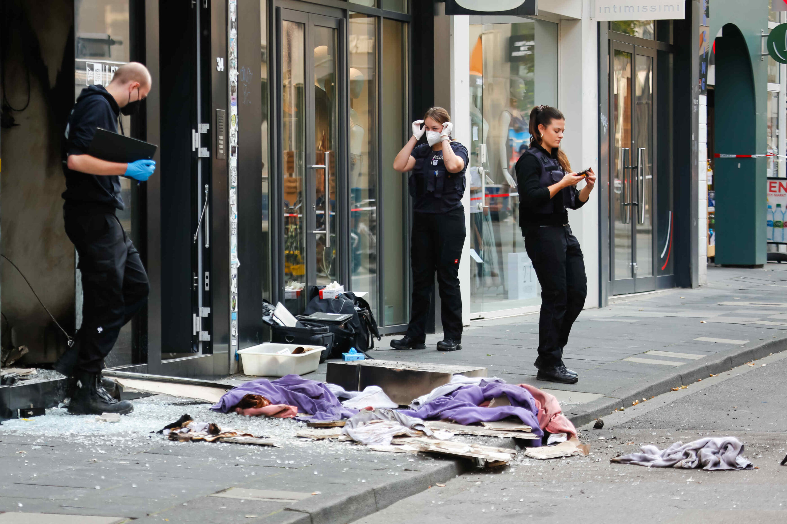
<svg viewBox="0 0 787 524"><path fill-rule="evenodd" d="M698 290L622 297L608 308L582 312L565 350L567 365L580 374L576 385L535 379L538 315L472 323L460 352L435 351L442 338L436 334L427 340L430 349L388 350L390 338L384 338L383 347L372 354L381 360L486 366L490 376L549 389L581 423L593 412L611 411L615 402L623 405L643 388L696 380L713 366L733 367L736 356L753 358L758 351L784 349L787 265L709 268L708 279L708 286ZM704 362L713 365L703 367ZM321 380L324 373L325 364L306 377ZM135 401L135 417L120 423L130 426L127 433L112 426L116 429L102 434L90 430L93 422L88 418L51 413L29 422L27 429L22 421L4 423L0 524L72 524L63 520L66 515L80 515L79 524L346 524L469 467L462 460L369 452L347 444L297 442L294 437L284 439L280 448L171 443L149 432L183 412L195 419L211 416L205 404L171 400L166 404L159 396ZM168 407L150 411L146 403ZM53 426L46 426L49 421ZM282 432L281 424L293 422L253 423L269 424L260 430L267 433ZM503 439L489 438L493 442L488 444L505 445Z"/></svg>

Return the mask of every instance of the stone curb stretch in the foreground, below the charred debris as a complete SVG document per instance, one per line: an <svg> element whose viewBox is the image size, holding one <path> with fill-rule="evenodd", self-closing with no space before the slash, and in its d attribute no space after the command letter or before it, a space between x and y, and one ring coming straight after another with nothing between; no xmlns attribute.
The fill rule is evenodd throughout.
<svg viewBox="0 0 787 524"><path fill-rule="evenodd" d="M367 515L426 491L436 482L446 482L471 467L470 459L444 459L429 471L418 471L406 478L392 478L364 486L355 493L325 493L310 496L284 507L260 522L268 524L349 524Z"/></svg>

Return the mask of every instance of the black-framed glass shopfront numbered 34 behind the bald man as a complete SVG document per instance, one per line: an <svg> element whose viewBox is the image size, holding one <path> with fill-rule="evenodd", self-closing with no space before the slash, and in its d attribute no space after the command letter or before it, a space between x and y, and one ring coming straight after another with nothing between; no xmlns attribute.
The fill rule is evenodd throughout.
<svg viewBox="0 0 787 524"><path fill-rule="evenodd" d="M153 75L124 127L159 145L159 168L124 179L119 216L150 302L108 367L233 373L237 349L268 340L263 300L297 315L334 281L402 329L409 204L391 164L412 120L407 0L76 0L74 15L75 96L127 61Z"/></svg>

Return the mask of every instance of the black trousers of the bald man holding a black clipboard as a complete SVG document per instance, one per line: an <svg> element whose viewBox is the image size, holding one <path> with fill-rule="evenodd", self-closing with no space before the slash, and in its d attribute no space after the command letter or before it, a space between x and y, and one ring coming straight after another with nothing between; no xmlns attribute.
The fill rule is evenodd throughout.
<svg viewBox="0 0 787 524"><path fill-rule="evenodd" d="M120 328L147 301L150 285L139 252L113 208L68 207L65 233L79 255L82 327L76 335L75 371L99 373Z"/></svg>

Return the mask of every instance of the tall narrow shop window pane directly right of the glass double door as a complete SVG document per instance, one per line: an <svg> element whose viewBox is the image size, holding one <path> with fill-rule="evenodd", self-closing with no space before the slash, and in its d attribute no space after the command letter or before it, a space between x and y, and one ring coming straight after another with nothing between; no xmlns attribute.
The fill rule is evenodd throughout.
<svg viewBox="0 0 787 524"><path fill-rule="evenodd" d="M349 222L353 291L377 312L377 17L349 14Z"/></svg>

